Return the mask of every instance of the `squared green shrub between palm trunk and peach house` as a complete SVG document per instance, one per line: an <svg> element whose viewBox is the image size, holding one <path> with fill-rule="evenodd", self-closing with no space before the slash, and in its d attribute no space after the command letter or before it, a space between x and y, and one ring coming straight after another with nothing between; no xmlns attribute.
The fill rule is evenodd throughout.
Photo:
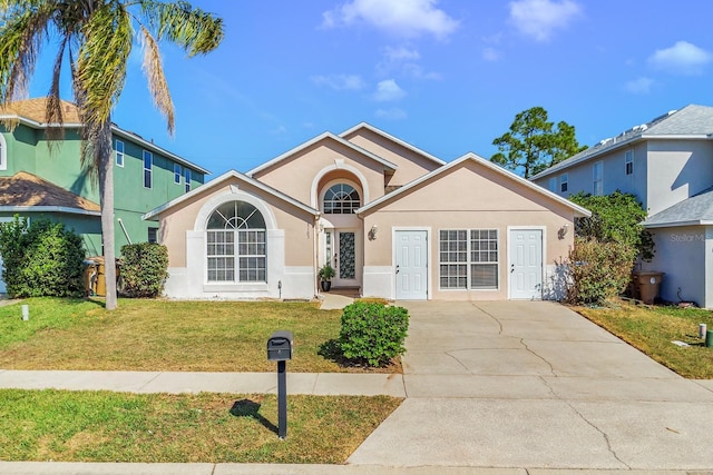
<svg viewBox="0 0 713 475"><path fill-rule="evenodd" d="M168 249L156 243L121 246L120 293L127 297L158 297L168 278Z"/></svg>

